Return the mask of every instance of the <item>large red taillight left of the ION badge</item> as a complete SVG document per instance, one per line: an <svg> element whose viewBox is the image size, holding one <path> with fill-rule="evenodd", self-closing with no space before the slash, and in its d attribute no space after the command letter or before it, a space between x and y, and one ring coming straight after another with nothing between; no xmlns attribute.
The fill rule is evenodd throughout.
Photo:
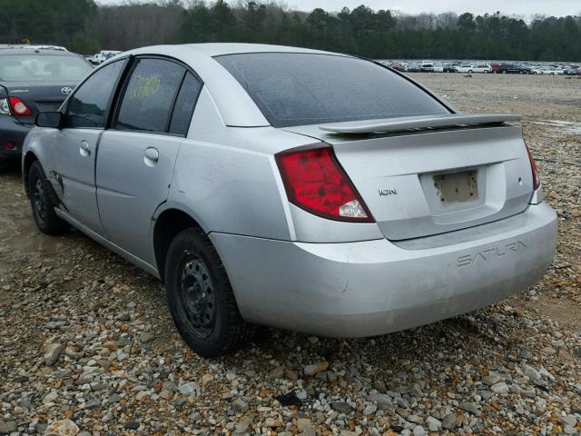
<svg viewBox="0 0 581 436"><path fill-rule="evenodd" d="M330 145L298 147L275 159L291 203L330 220L374 222Z"/></svg>

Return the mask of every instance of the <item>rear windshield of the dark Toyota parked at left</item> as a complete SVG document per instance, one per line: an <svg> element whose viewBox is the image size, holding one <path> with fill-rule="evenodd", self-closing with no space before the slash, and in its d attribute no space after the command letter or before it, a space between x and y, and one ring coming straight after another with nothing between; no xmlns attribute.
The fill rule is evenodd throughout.
<svg viewBox="0 0 581 436"><path fill-rule="evenodd" d="M91 70L84 59L71 55L0 55L2 82L80 82Z"/></svg>

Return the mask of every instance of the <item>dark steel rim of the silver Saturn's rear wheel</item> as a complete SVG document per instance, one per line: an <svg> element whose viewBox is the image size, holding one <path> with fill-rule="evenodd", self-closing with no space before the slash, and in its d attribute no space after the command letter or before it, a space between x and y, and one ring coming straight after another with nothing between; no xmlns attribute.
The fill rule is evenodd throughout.
<svg viewBox="0 0 581 436"><path fill-rule="evenodd" d="M216 292L208 267L198 256L182 263L180 296L193 334L200 339L210 336L216 318Z"/></svg>

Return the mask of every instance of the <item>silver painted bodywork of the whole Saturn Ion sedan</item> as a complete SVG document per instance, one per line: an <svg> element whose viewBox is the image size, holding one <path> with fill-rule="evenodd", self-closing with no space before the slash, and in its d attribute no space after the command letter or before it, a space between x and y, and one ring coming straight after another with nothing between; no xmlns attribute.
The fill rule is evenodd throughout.
<svg viewBox="0 0 581 436"><path fill-rule="evenodd" d="M326 126L335 133L275 129L212 58L272 51L312 52L133 50L179 59L201 76L186 138L34 128L23 155L42 163L64 203L59 216L156 277L157 218L190 215L214 243L249 322L329 336L395 332L486 306L542 276L555 253L556 214L541 189L533 192L520 126L363 136L337 133L377 123ZM404 122L383 120L381 129ZM274 155L323 141L377 223L329 221L288 202ZM478 204L442 209L429 197L433 174L473 169Z"/></svg>

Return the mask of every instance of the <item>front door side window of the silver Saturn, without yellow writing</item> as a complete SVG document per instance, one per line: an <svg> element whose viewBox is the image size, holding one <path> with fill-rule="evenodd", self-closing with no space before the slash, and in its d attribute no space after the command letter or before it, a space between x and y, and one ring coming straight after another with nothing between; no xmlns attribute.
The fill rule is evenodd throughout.
<svg viewBox="0 0 581 436"><path fill-rule="evenodd" d="M74 92L66 108L64 127L104 128L113 88L126 62L103 66Z"/></svg>

